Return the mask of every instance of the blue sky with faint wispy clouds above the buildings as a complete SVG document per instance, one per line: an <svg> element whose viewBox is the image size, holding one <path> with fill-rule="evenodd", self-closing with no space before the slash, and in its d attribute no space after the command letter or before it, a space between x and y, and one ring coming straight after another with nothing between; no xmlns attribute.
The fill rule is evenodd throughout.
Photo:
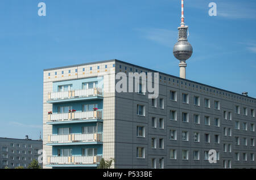
<svg viewBox="0 0 256 180"><path fill-rule="evenodd" d="M38 3L45 2L45 17ZM217 16L209 16L209 3ZM256 97L256 2L185 0L187 79ZM0 1L0 136L39 138L43 69L106 59L179 76L180 0Z"/></svg>

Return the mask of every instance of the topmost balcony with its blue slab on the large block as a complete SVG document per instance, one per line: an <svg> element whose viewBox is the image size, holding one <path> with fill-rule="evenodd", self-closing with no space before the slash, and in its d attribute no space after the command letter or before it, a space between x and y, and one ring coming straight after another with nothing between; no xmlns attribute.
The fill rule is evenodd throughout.
<svg viewBox="0 0 256 180"><path fill-rule="evenodd" d="M48 103L55 104L69 101L85 101L102 98L101 88L80 89L75 91L49 92Z"/></svg>

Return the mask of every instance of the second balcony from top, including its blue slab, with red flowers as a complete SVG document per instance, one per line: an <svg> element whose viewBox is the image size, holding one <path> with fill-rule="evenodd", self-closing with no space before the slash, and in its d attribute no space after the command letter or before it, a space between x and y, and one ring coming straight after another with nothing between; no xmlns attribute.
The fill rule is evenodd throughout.
<svg viewBox="0 0 256 180"><path fill-rule="evenodd" d="M93 110L89 112L69 112L48 114L48 124L57 124L69 122L92 122L92 119L102 119L102 110ZM85 121L84 121L85 120Z"/></svg>

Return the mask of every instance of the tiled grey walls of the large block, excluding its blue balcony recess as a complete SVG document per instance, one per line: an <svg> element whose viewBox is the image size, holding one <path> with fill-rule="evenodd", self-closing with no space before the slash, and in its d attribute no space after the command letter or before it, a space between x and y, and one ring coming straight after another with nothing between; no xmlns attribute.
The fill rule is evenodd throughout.
<svg viewBox="0 0 256 180"><path fill-rule="evenodd" d="M105 70L106 63L114 66ZM87 73L90 66L92 72ZM94 70L94 66L100 68ZM56 71L75 68L76 76L54 77ZM86 79L103 76L104 71L127 76L129 72L156 72L116 59L51 68L44 70L44 86L49 87L44 96L52 91L52 78L56 82ZM112 82L118 80L104 80L104 87L108 83L114 88ZM255 98L159 72L155 101L152 106L148 93L104 93L102 156L115 158L114 168L256 168ZM138 114L138 105L143 107L142 114ZM44 113L50 110L46 104ZM52 132L46 122L47 115L44 144ZM52 149L46 149L51 155ZM217 163L209 163L210 149L216 150Z"/></svg>

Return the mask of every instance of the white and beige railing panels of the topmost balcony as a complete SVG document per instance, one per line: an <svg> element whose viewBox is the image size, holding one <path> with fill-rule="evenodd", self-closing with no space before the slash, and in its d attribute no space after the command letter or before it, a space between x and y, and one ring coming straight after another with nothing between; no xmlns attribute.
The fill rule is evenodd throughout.
<svg viewBox="0 0 256 180"><path fill-rule="evenodd" d="M80 89L75 91L49 92L48 101L65 100L70 98L92 97L92 96L102 96L102 89L91 88L91 89Z"/></svg>

